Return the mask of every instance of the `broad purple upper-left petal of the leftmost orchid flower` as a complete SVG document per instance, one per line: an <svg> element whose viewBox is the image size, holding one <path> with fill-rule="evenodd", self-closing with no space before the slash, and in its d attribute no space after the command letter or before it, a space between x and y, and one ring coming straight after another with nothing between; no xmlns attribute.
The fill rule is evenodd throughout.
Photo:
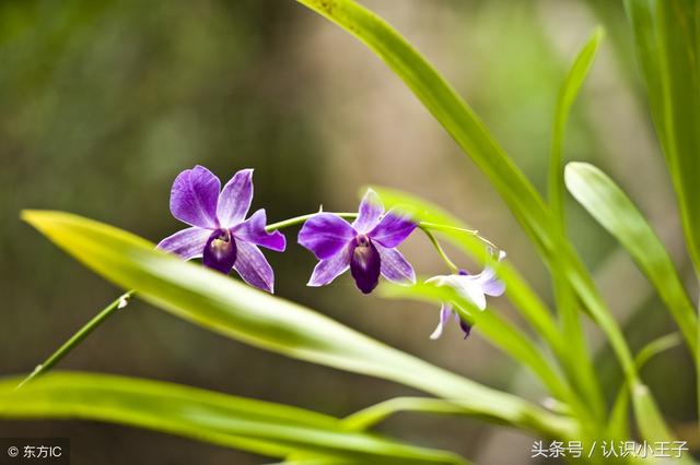
<svg viewBox="0 0 700 465"><path fill-rule="evenodd" d="M197 165L177 175L171 190L173 216L190 226L219 227L217 203L221 182L210 170Z"/></svg>

